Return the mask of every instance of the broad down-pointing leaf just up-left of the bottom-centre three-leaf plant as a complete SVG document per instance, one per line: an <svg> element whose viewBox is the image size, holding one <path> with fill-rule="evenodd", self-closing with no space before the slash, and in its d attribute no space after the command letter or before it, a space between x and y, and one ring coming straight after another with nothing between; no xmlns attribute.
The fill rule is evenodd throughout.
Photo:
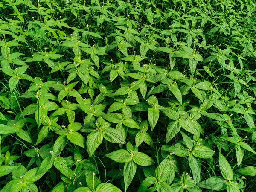
<svg viewBox="0 0 256 192"><path fill-rule="evenodd" d="M89 157L93 155L96 148L98 148L99 145L102 143L102 140L103 140L102 131L93 131L87 136L86 148L87 148Z"/></svg>

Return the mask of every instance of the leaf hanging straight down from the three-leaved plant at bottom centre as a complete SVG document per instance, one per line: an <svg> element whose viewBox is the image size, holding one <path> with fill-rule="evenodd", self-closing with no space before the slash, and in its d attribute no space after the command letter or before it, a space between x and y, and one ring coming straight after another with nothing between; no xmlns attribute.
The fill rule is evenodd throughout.
<svg viewBox="0 0 256 192"><path fill-rule="evenodd" d="M131 184L131 181L136 173L137 165L131 160L126 162L124 166L124 182L125 182L125 191L128 186Z"/></svg>

